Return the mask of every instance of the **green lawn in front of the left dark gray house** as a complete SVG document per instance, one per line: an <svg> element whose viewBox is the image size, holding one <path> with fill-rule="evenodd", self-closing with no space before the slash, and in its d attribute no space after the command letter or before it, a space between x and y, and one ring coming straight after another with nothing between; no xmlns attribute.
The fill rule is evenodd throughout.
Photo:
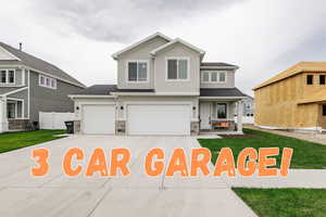
<svg viewBox="0 0 326 217"><path fill-rule="evenodd" d="M27 132L11 132L0 135L0 153L30 146L42 142L61 139L55 135L65 133L65 130L37 130Z"/></svg>

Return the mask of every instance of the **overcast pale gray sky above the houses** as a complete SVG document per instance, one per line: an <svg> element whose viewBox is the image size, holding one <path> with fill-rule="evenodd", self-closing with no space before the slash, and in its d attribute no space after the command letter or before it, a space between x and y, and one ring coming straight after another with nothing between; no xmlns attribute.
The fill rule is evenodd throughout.
<svg viewBox="0 0 326 217"><path fill-rule="evenodd" d="M240 66L252 87L300 61L326 61L325 0L10 0L0 41L55 64L87 86L115 84L111 54L161 31Z"/></svg>

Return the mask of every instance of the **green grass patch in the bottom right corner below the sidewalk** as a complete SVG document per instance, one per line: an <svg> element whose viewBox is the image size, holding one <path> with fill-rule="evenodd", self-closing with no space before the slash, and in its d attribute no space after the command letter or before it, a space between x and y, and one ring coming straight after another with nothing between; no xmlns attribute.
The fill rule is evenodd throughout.
<svg viewBox="0 0 326 217"><path fill-rule="evenodd" d="M326 189L233 189L260 217L325 217Z"/></svg>

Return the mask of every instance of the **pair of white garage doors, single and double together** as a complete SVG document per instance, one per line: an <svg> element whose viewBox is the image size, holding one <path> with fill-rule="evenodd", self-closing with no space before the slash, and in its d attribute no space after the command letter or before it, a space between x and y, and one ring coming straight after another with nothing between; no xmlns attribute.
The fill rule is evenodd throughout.
<svg viewBox="0 0 326 217"><path fill-rule="evenodd" d="M84 104L80 125L85 135L115 135L116 120L125 122L129 136L189 136L191 122L190 103L125 103ZM123 118L120 117L120 110Z"/></svg>

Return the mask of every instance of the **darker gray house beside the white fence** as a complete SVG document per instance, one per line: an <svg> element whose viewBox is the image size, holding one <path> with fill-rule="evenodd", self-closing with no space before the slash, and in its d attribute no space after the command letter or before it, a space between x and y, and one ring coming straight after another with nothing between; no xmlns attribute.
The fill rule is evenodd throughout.
<svg viewBox="0 0 326 217"><path fill-rule="evenodd" d="M0 132L33 126L39 112L73 112L67 94L84 88L57 66L0 42Z"/></svg>

